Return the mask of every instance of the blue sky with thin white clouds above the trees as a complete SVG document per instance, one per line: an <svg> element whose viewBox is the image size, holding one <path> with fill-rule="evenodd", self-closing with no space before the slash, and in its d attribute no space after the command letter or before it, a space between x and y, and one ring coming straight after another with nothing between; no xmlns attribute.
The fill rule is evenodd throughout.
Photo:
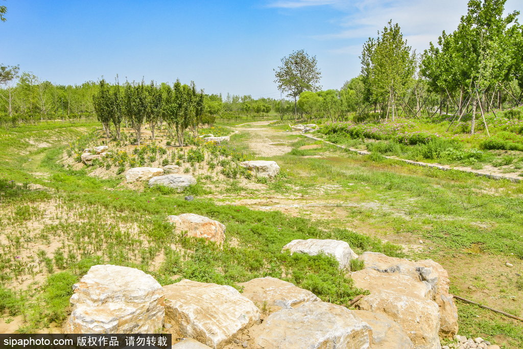
<svg viewBox="0 0 523 349"><path fill-rule="evenodd" d="M508 0L506 12L523 9ZM315 55L324 89L360 73L361 48L389 19L418 52L457 28L466 0L7 0L0 63L54 84L195 81L206 93L280 98L274 71ZM521 21L522 17L519 16ZM285 95L283 95L285 97Z"/></svg>

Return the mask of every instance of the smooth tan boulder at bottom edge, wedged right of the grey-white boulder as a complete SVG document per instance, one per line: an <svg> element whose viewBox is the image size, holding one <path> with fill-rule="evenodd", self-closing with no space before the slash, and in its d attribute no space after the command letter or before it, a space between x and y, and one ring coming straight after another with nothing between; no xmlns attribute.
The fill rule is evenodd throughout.
<svg viewBox="0 0 523 349"><path fill-rule="evenodd" d="M380 313L353 310L353 314L372 330L371 349L413 349L411 339L397 322Z"/></svg>

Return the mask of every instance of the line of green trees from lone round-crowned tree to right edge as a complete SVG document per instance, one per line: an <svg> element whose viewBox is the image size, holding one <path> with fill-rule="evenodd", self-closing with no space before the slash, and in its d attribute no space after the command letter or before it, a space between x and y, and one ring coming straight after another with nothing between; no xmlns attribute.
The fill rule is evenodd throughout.
<svg viewBox="0 0 523 349"><path fill-rule="evenodd" d="M519 12L503 15L505 2L469 1L457 30L444 31L422 54L413 51L400 26L389 21L363 46L360 76L339 91L316 92L316 61L303 51L282 60L276 82L291 98L299 92L297 111L310 117L339 120L349 112L370 115L373 109L372 116L383 121L438 112L461 120L470 113L474 132L477 115L486 127L486 111L519 105L523 98L523 26L517 21ZM288 69L300 61L308 64Z"/></svg>

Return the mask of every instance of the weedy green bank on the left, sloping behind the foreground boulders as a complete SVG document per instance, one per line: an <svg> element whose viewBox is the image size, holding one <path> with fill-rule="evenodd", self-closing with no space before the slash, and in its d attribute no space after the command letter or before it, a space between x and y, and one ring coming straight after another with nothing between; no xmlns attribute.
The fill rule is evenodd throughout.
<svg viewBox="0 0 523 349"><path fill-rule="evenodd" d="M361 290L338 271L332 258L290 256L280 253L281 247L293 239L336 236L359 252L397 255L391 244L322 222L216 206L208 199L188 202L183 194L164 196L149 188L137 192L118 187L121 179L98 179L62 168L57 163L63 151L59 144L91 129L88 124L48 123L2 131L0 231L9 243L2 246L0 258L0 312L7 321L21 314L21 332L59 325L72 283L94 264L138 267L162 284L184 277L234 285L270 275L344 304ZM30 182L50 190L16 185ZM184 212L223 222L228 237L224 248L172 234L165 217ZM46 222L43 228L28 228L38 221ZM49 249L53 243L58 247Z"/></svg>

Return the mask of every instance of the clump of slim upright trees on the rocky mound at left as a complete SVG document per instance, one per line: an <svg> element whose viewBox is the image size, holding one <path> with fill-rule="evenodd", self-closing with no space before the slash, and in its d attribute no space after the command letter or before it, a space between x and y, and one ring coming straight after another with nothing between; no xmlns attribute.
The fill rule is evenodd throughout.
<svg viewBox="0 0 523 349"><path fill-rule="evenodd" d="M183 145L187 129L192 129L195 136L198 133L205 111L204 99L203 90L197 91L192 81L189 85L179 80L173 85L126 81L121 86L118 82L110 85L102 79L93 96L93 105L107 138L113 125L116 138L120 139L120 127L124 123L134 130L140 145L145 123L149 124L154 139L156 128L165 122L169 132L176 132L178 144Z"/></svg>

